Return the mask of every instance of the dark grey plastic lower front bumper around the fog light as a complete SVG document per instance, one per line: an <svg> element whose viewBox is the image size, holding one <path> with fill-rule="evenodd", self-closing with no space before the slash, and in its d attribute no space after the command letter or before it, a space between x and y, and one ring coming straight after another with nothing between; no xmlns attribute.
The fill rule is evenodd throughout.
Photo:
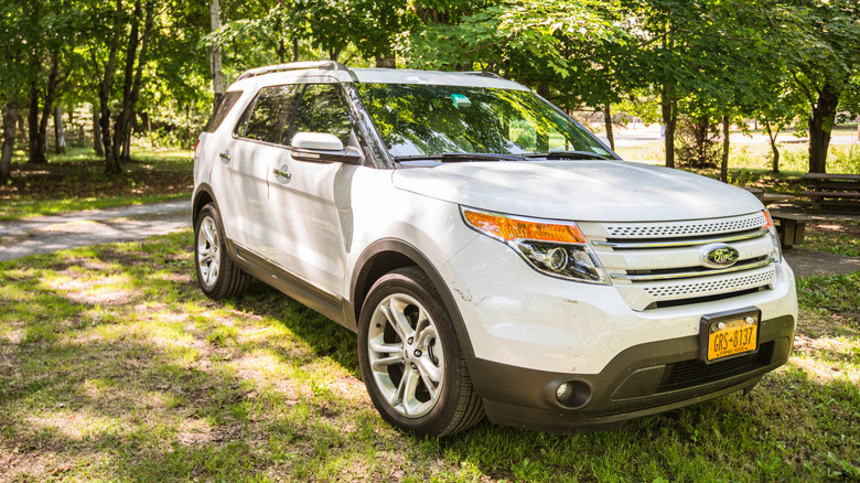
<svg viewBox="0 0 860 483"><path fill-rule="evenodd" d="M598 374L528 369L477 357L469 359L469 367L494 423L562 433L605 430L752 388L787 362L794 329L793 315L764 320L756 353L710 365L698 361L698 337L686 336L628 347ZM556 398L566 382L587 393L577 407Z"/></svg>

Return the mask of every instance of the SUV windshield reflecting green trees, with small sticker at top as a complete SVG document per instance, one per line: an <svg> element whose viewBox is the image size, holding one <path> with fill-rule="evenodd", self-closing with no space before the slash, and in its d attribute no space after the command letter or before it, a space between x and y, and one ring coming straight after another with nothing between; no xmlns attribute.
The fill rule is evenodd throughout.
<svg viewBox="0 0 860 483"><path fill-rule="evenodd" d="M614 158L582 126L528 90L413 84L356 87L397 159L550 152L567 152L571 159Z"/></svg>

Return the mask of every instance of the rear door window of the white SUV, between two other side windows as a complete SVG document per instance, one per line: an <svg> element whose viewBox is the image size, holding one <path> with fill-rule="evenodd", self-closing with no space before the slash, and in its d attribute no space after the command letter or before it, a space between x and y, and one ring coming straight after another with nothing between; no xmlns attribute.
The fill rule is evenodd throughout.
<svg viewBox="0 0 860 483"><path fill-rule="evenodd" d="M260 89L249 112L243 116L238 135L258 141L286 144L290 114L299 86L269 86Z"/></svg>

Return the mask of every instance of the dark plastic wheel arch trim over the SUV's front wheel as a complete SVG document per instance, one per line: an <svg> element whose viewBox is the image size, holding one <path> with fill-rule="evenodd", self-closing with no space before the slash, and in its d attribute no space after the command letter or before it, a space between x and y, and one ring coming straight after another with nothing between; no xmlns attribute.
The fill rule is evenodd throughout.
<svg viewBox="0 0 860 483"><path fill-rule="evenodd" d="M384 275L398 268L411 266L420 268L436 286L436 290L454 324L460 348L467 356L466 359L469 361L471 356L474 356L472 341L469 337L465 321L460 313L448 283L445 283L433 264L418 248L399 239L388 238L378 240L367 247L358 257L350 290L356 330L361 330L358 320L362 305L367 298L367 292L370 291L370 287Z"/></svg>

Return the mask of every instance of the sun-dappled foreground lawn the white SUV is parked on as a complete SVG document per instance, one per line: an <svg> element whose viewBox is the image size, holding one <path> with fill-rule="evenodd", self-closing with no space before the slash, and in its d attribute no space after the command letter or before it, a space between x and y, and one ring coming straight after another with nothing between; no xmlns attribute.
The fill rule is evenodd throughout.
<svg viewBox="0 0 860 483"><path fill-rule="evenodd" d="M400 433L355 335L193 279L191 232L0 262L0 482L860 480L860 276L799 281L789 363L751 395L556 436Z"/></svg>

